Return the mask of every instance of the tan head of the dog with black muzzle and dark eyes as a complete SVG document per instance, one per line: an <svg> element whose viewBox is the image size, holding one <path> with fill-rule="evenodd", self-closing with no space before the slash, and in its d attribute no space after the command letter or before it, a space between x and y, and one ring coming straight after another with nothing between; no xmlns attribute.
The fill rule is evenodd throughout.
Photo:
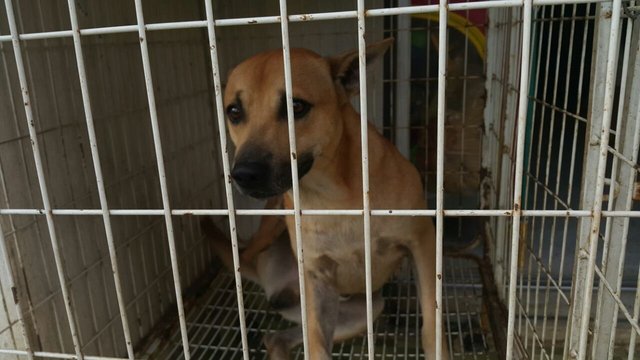
<svg viewBox="0 0 640 360"><path fill-rule="evenodd" d="M393 39L367 47L367 64L382 57ZM359 90L358 52L324 58L291 50L293 116L298 176L335 150L342 134L342 108ZM292 186L282 50L255 55L232 70L224 94L231 140L231 171L240 190L252 197L279 195Z"/></svg>

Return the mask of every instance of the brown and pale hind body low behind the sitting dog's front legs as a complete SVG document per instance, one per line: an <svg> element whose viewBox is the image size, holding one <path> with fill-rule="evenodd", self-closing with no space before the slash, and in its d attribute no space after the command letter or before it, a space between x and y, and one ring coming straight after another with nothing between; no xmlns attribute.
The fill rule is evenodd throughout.
<svg viewBox="0 0 640 360"><path fill-rule="evenodd" d="M278 206L279 200L270 199L267 208ZM211 240L216 255L222 263L233 270L233 254L230 240L213 221L204 218L201 227ZM285 231L284 219L279 216L264 216L260 227L240 256L240 272L243 278L262 287L271 308L285 319L300 323L300 287L298 264ZM338 304L338 321L333 333L334 341L343 341L361 334L367 328L366 298L364 294L341 298ZM382 312L384 300L380 291L373 294L373 315ZM265 344L275 351L287 351L302 342L299 328L282 331L275 336L267 335ZM278 346L283 344L284 346ZM277 358L271 352L272 358ZM281 356L286 358L286 354Z"/></svg>

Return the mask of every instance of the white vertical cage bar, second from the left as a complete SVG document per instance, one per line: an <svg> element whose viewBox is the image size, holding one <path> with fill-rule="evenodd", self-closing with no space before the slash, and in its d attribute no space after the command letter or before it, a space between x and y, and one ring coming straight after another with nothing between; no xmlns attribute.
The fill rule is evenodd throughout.
<svg viewBox="0 0 640 360"><path fill-rule="evenodd" d="M76 13L76 5L74 0L67 1L69 6L69 17L71 20L71 29L73 30L73 46L76 54L76 63L78 65L78 77L80 78L80 90L82 92L82 100L84 104L84 113L87 122L87 133L89 135L89 144L91 146L91 158L96 174L96 183L98 186L98 196L100 198L100 207L102 209L102 220L104 221L104 231L109 247L109 258L111 259L111 271L113 272L113 281L116 289L116 299L118 301L118 309L120 310L120 318L122 321L122 330L127 348L129 359L134 358L133 344L131 342L131 332L129 331L129 320L127 319L127 309L125 306L124 296L122 293L122 283L120 281L120 271L118 269L118 258L116 255L116 246L113 239L113 228L111 226L111 216L109 215L109 205L107 203L107 193L104 187L104 178L102 176L102 165L100 162L100 154L98 152L98 143L96 139L96 131L93 123L93 112L91 110L91 99L89 96L89 87L87 85L87 73L84 66L84 55L82 53L82 44L80 42L80 27L78 26L78 15Z"/></svg>

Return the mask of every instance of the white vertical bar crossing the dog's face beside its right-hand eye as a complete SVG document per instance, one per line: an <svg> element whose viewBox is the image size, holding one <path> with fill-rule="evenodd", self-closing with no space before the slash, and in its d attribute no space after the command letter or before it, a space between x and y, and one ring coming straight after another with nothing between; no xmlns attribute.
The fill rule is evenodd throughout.
<svg viewBox="0 0 640 360"><path fill-rule="evenodd" d="M296 128L293 117L293 85L291 80L291 55L289 47L289 17L287 14L287 1L280 0L280 29L282 32L282 55L284 60L284 84L287 100L287 129L289 131L289 152L291 153L291 183L293 185L293 208L296 236L296 258L298 259L298 276L300 280L300 309L302 325L302 344L304 359L309 360L309 336L307 328L307 296L305 291L304 276L304 249L302 248L302 223L300 212L300 184L298 182L298 152L296 148ZM362 77L360 78L362 81ZM366 88L365 88L366 91ZM366 92L362 95L366 96ZM365 103L366 105L366 103ZM365 113L366 106L362 109ZM369 300L369 299L368 299Z"/></svg>

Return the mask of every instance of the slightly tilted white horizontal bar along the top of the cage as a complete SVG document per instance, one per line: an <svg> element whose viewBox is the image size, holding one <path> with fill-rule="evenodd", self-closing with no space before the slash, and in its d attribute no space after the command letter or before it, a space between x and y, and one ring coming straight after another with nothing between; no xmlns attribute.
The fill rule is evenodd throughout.
<svg viewBox="0 0 640 360"><path fill-rule="evenodd" d="M555 4L587 4L587 3L601 3L611 2L611 0L534 0L534 6L542 5L555 5ZM490 9L490 8L504 8L504 7L520 7L522 6L521 0L496 0L496 1L477 1L468 3L453 3L449 4L449 11L465 11L474 9ZM379 17L379 16L395 16L395 15L412 15L412 14L425 14L435 13L438 11L438 5L419 5L419 6L406 6L406 7L394 7L385 9L371 9L366 11L367 17ZM305 22L305 21L321 21L321 20L340 20L340 19L355 19L357 17L357 11L335 11L326 13L315 14L297 14L289 15L290 22ZM248 18L232 18L232 19L218 19L214 21L215 26L238 26L238 25L259 25L259 24L277 24L280 23L280 16L260 16L260 17L248 17ZM179 30L179 29L199 29L206 28L206 20L190 20L190 21L176 21L168 23L155 23L146 24L145 30L147 31L159 31L159 30ZM138 31L138 25L119 25L108 26L100 28L81 29L80 35L106 35L106 34L121 34L121 33L135 33ZM72 37L72 30L58 30L58 31L46 31L37 33L20 34L19 39L25 40L42 40L42 39L54 39ZM0 35L0 42L11 41L10 35Z"/></svg>

